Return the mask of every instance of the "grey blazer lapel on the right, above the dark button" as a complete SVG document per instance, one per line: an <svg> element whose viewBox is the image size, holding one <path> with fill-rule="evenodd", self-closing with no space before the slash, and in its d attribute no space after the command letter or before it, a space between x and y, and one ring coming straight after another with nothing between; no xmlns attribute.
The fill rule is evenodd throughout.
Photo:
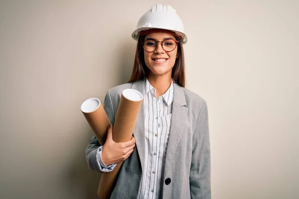
<svg viewBox="0 0 299 199"><path fill-rule="evenodd" d="M183 129L186 128L186 121L188 108L185 107L186 100L183 88L177 84L173 85L174 95L172 102L172 115L170 123L170 131L168 137L168 147L165 157L165 168L171 168L168 164L171 164L172 157L176 154L176 149L182 136ZM167 170L164 172L166 176Z"/></svg>

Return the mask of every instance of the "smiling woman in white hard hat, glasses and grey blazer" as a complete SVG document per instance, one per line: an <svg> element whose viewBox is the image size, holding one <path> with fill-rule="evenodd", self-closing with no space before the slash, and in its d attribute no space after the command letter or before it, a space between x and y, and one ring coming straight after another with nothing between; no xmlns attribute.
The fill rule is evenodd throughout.
<svg viewBox="0 0 299 199"><path fill-rule="evenodd" d="M138 22L129 83L110 89L104 108L114 124L124 89L143 93L134 137L115 143L112 125L104 146L93 136L86 149L89 168L110 172L125 160L112 199L210 199L207 104L185 86L183 24L169 5L158 4Z"/></svg>

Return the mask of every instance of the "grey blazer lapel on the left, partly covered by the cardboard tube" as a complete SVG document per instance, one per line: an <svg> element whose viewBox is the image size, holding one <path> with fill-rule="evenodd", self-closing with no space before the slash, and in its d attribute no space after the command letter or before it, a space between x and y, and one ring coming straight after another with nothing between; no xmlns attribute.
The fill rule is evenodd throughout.
<svg viewBox="0 0 299 199"><path fill-rule="evenodd" d="M145 98L145 80L140 80L137 82L134 82L131 89L135 89L143 94ZM141 162L141 168L142 171L144 171L144 164L145 164L145 115L144 115L144 100L142 101L142 105L139 111L139 115L137 118L137 122L135 125L135 129L133 132L133 135L135 137L136 147L139 154L140 162Z"/></svg>

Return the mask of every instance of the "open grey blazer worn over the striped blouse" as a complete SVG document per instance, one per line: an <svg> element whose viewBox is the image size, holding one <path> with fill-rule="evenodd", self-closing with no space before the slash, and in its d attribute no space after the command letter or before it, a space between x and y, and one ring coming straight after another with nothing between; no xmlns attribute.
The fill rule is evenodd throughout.
<svg viewBox="0 0 299 199"><path fill-rule="evenodd" d="M144 93L145 80L110 89L104 109L112 124L122 91L135 89ZM165 157L165 172L161 195L163 199L210 199L210 141L208 110L205 100L175 84L172 117ZM122 165L111 199L136 199L145 170L144 105L134 130L136 148ZM86 160L91 170L97 169L96 153L100 144L93 136L86 148Z"/></svg>

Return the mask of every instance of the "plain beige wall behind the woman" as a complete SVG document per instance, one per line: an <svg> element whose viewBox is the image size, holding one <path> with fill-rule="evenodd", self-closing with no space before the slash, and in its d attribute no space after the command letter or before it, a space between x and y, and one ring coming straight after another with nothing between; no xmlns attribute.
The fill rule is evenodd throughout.
<svg viewBox="0 0 299 199"><path fill-rule="evenodd" d="M128 81L160 1L0 2L0 198L92 199L81 103ZM208 102L213 199L299 198L299 1L164 0L187 88Z"/></svg>

